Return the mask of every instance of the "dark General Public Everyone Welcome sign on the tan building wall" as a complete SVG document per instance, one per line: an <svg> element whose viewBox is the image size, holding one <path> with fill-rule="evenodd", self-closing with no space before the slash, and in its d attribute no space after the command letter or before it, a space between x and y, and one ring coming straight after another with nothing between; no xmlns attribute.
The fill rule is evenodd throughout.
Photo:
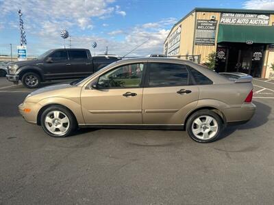
<svg viewBox="0 0 274 205"><path fill-rule="evenodd" d="M216 37L216 20L197 20L195 45L214 46Z"/></svg>

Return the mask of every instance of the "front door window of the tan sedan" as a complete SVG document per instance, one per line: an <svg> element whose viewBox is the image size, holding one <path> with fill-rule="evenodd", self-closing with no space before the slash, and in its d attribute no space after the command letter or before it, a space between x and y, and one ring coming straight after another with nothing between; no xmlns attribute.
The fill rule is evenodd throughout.
<svg viewBox="0 0 274 205"><path fill-rule="evenodd" d="M140 87L144 64L129 64L114 68L101 75L98 86L101 88Z"/></svg>

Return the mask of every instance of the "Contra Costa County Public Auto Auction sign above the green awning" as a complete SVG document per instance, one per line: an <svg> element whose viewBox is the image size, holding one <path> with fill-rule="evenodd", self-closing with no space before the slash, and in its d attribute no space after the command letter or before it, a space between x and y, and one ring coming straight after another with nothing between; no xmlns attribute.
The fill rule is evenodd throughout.
<svg viewBox="0 0 274 205"><path fill-rule="evenodd" d="M221 13L221 24L269 25L269 14Z"/></svg>

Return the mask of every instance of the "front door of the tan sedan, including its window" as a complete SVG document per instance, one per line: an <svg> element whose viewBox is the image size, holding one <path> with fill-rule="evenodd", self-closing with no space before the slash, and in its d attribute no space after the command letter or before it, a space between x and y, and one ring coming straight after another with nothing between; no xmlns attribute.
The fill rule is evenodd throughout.
<svg viewBox="0 0 274 205"><path fill-rule="evenodd" d="M97 88L82 90L86 124L142 124L142 70L145 64L119 66L102 74Z"/></svg>

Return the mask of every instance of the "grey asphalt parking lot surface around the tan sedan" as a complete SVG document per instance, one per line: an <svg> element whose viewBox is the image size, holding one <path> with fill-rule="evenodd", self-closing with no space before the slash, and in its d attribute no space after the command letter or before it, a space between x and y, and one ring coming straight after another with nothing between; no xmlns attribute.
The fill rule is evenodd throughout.
<svg viewBox="0 0 274 205"><path fill-rule="evenodd" d="M253 119L201 144L183 131L49 137L17 111L30 90L0 78L0 204L273 204L274 81L253 85Z"/></svg>

